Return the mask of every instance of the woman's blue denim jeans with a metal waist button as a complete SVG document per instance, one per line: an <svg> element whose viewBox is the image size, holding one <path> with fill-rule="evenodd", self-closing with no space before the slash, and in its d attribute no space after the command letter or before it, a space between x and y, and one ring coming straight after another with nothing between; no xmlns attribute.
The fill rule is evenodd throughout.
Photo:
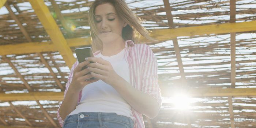
<svg viewBox="0 0 256 128"><path fill-rule="evenodd" d="M68 115L62 128L133 128L133 121L116 113L81 112Z"/></svg>

